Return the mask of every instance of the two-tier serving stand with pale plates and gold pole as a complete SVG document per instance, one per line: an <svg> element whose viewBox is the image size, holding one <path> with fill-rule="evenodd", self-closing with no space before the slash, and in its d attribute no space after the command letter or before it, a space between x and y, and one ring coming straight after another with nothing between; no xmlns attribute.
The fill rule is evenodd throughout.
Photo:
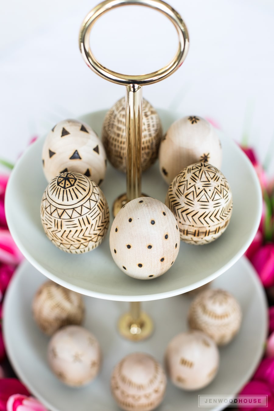
<svg viewBox="0 0 274 411"><path fill-rule="evenodd" d="M89 45L90 30L101 14L120 5L152 7L173 22L179 36L179 48L166 67L158 72L133 77L112 72L94 58ZM124 203L141 194L141 86L160 81L180 67L187 53L188 33L180 15L160 0L107 0L85 18L80 32L80 48L87 65L97 74L126 85L127 193L121 195L125 185L124 175L110 165L101 186L108 204L113 204L113 211L117 213ZM173 121L182 117L182 113L176 115L163 110L158 110L158 113L164 132ZM84 115L80 120L87 122L100 135L105 114L106 111L99 111ZM219 137L223 147L222 172L233 193L230 224L221 238L209 245L197 247L181 242L172 268L151 281L133 279L122 273L113 262L108 238L100 247L83 255L67 254L54 247L45 236L39 214L42 194L47 185L41 166L44 139L38 139L19 159L7 187L6 214L12 236L29 262L19 268L7 292L4 335L9 358L18 375L50 410L118 409L109 388L113 366L134 351L151 353L162 363L170 339L187 327L186 314L191 300L189 296L180 294L212 280L214 287L230 291L239 300L243 310L242 328L233 342L221 349L220 370L210 386L198 393L187 393L168 383L166 397L159 410L179 411L182 407L188 411L196 410L198 394L231 397L251 376L263 351L267 306L256 273L244 257L240 257L258 229L262 209L261 191L247 157L221 132ZM160 177L158 164L143 173L143 192L147 195L164 202L167 188ZM99 339L104 360L97 379L85 388L64 386L47 365L48 338L37 329L31 314L31 301L39 285L44 282L43 274L87 296L84 326ZM125 301L131 302L131 311L121 317L125 311ZM140 301L147 301L144 305L150 317L140 312ZM148 336L149 339L141 341ZM212 409L221 408L212 406Z"/></svg>

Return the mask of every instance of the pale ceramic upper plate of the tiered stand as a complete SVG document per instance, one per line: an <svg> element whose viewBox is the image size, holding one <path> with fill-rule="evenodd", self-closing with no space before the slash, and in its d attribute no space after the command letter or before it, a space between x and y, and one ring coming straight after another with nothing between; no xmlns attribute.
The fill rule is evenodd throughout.
<svg viewBox="0 0 274 411"><path fill-rule="evenodd" d="M81 118L100 135L106 111ZM173 113L158 111L164 131L177 120ZM180 116L181 117L181 116ZM87 254L67 254L46 237L40 221L40 203L47 182L42 170L44 139L32 144L17 162L6 192L6 215L12 236L21 252L40 272L78 293L107 300L156 300L185 293L228 270L245 252L256 234L262 210L262 194L249 159L231 139L220 134L223 147L221 171L233 194L233 214L225 233L203 246L181 241L179 255L166 274L150 281L125 275L114 263L108 236L103 244ZM108 164L101 189L110 209L125 191L123 173ZM143 173L142 191L164 202L168 186L159 165ZM111 224L112 224L111 217Z"/></svg>

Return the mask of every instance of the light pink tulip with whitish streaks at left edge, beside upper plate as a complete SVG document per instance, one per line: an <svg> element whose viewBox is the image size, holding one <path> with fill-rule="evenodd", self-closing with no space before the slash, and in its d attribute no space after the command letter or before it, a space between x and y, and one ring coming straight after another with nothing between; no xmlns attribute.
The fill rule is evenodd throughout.
<svg viewBox="0 0 274 411"><path fill-rule="evenodd" d="M0 262L17 266L23 260L8 230L0 229Z"/></svg>

